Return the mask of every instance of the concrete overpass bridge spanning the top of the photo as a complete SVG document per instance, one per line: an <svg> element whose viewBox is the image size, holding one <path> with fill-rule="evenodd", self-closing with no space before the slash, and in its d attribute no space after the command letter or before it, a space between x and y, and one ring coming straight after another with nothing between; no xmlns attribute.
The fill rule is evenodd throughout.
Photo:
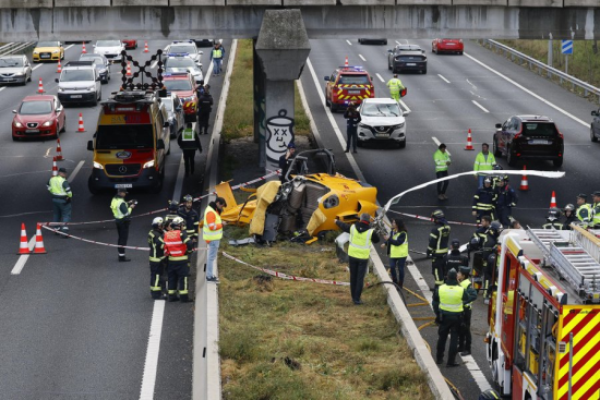
<svg viewBox="0 0 600 400"><path fill-rule="evenodd" d="M0 0L0 41L255 38L281 9L311 39L600 38L600 0Z"/></svg>

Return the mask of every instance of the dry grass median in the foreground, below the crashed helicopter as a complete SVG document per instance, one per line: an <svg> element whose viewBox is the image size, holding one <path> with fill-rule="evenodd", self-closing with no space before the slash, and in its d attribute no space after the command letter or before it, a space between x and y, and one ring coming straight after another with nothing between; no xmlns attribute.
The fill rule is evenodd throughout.
<svg viewBox="0 0 600 400"><path fill-rule="evenodd" d="M288 275L349 279L332 244L223 247ZM224 399L433 398L381 288L355 306L348 287L280 280L223 256L219 278Z"/></svg>

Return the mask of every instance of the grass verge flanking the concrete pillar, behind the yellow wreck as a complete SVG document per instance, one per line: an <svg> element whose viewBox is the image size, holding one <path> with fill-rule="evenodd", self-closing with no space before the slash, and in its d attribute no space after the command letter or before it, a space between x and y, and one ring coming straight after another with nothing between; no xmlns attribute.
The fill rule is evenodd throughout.
<svg viewBox="0 0 600 400"><path fill-rule="evenodd" d="M226 143L235 138L254 135L252 39L238 40L237 51L224 116L223 136ZM310 121L302 108L298 88L296 88L295 97L296 124L293 133L307 136L310 133Z"/></svg>

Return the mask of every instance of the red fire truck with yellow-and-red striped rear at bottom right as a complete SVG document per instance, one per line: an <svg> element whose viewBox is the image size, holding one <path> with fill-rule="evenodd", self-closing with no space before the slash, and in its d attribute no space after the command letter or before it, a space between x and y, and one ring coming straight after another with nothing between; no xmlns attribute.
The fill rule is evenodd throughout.
<svg viewBox="0 0 600 400"><path fill-rule="evenodd" d="M600 239L507 230L489 308L488 361L513 399L600 399Z"/></svg>

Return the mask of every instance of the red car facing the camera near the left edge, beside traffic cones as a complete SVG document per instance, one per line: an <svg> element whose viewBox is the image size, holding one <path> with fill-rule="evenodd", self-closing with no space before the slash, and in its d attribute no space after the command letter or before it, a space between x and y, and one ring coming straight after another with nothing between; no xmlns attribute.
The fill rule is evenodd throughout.
<svg viewBox="0 0 600 400"><path fill-rule="evenodd" d="M12 111L12 140L25 137L58 137L64 132L67 117L64 107L57 96L27 96L21 102L19 110Z"/></svg>

